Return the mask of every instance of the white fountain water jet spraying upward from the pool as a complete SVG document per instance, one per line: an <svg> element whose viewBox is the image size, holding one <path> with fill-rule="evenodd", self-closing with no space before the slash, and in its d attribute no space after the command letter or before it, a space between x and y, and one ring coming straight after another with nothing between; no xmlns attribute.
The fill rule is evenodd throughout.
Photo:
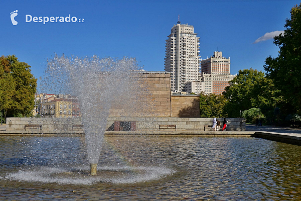
<svg viewBox="0 0 301 201"><path fill-rule="evenodd" d="M52 84L52 91L71 93L79 99L91 175L96 174L111 106L126 105L128 111L134 111L137 94L141 96L145 91L138 84L137 70L140 68L134 58L118 60L55 55L48 60L46 74L50 76L45 80Z"/></svg>

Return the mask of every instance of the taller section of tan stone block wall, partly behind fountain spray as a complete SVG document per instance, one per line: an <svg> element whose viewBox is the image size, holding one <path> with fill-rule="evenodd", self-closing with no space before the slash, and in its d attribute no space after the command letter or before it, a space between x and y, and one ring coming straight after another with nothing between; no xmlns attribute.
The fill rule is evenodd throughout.
<svg viewBox="0 0 301 201"><path fill-rule="evenodd" d="M170 73L143 72L133 77L131 98L118 97L110 109L110 117L170 117Z"/></svg>

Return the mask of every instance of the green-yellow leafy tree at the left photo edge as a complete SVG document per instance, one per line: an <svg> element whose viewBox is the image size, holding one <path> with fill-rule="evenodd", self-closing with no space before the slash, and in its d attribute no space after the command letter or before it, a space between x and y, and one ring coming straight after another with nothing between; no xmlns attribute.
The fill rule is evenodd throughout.
<svg viewBox="0 0 301 201"><path fill-rule="evenodd" d="M37 79L30 67L15 55L0 57L0 110L5 114L28 115L33 110Z"/></svg>

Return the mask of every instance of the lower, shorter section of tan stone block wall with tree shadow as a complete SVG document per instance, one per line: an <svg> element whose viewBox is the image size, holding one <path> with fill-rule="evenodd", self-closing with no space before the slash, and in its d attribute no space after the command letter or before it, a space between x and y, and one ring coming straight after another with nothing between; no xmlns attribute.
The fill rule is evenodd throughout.
<svg viewBox="0 0 301 201"><path fill-rule="evenodd" d="M172 117L200 117L199 95L172 95Z"/></svg>

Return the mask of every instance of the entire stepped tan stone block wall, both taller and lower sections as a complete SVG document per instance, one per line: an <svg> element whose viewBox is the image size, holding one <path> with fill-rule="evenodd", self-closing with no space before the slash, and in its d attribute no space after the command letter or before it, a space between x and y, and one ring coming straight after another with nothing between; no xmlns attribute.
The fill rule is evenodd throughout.
<svg viewBox="0 0 301 201"><path fill-rule="evenodd" d="M128 106L120 97L121 102L113 105L110 117L200 117L200 96L171 95L170 73L144 72L139 75L138 84L143 92L133 96L137 101Z"/></svg>

